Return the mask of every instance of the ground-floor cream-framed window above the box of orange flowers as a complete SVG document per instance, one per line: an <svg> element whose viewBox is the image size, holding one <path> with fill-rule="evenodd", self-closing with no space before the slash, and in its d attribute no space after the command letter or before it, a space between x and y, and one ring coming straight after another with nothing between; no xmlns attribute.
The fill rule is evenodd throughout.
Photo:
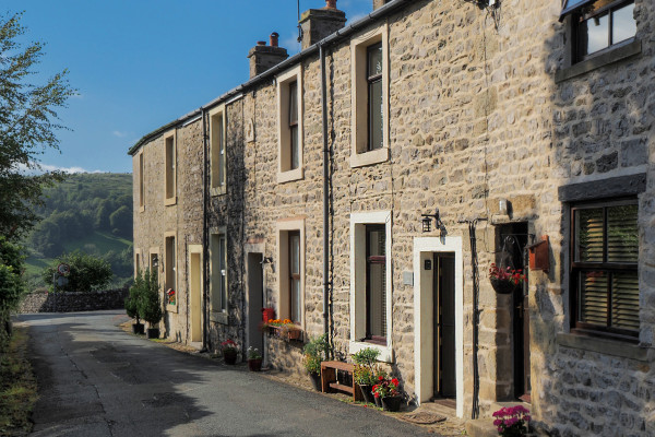
<svg viewBox="0 0 655 437"><path fill-rule="evenodd" d="M305 221L277 223L278 315L303 326L305 317Z"/></svg>

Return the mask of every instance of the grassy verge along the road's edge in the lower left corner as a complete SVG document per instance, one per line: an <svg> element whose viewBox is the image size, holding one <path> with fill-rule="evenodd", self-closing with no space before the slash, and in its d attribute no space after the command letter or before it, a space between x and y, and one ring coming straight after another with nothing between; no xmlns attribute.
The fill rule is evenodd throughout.
<svg viewBox="0 0 655 437"><path fill-rule="evenodd" d="M32 430L29 416L38 395L27 354L27 333L24 328L16 328L8 351L0 356L2 436L24 436Z"/></svg>

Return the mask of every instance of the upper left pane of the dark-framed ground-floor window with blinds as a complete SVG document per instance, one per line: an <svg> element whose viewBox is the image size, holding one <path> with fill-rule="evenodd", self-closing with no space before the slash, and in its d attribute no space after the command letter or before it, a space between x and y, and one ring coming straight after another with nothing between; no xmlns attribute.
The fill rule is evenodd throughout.
<svg viewBox="0 0 655 437"><path fill-rule="evenodd" d="M603 209L575 212L575 261L603 262Z"/></svg>

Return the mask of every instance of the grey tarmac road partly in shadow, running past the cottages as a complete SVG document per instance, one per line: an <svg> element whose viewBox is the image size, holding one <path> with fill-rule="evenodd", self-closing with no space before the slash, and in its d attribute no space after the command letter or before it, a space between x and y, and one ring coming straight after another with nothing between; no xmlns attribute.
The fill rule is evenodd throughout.
<svg viewBox="0 0 655 437"><path fill-rule="evenodd" d="M35 436L422 436L422 429L124 333L121 311L22 315Z"/></svg>

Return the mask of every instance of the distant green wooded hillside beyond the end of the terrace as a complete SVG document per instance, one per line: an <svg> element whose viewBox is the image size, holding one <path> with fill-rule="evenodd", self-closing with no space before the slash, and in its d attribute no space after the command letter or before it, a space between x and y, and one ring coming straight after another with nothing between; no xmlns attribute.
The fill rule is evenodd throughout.
<svg viewBox="0 0 655 437"><path fill-rule="evenodd" d="M45 286L40 272L61 253L80 250L103 257L114 286L132 277L132 175L79 174L45 190L43 220L26 238L26 275Z"/></svg>

